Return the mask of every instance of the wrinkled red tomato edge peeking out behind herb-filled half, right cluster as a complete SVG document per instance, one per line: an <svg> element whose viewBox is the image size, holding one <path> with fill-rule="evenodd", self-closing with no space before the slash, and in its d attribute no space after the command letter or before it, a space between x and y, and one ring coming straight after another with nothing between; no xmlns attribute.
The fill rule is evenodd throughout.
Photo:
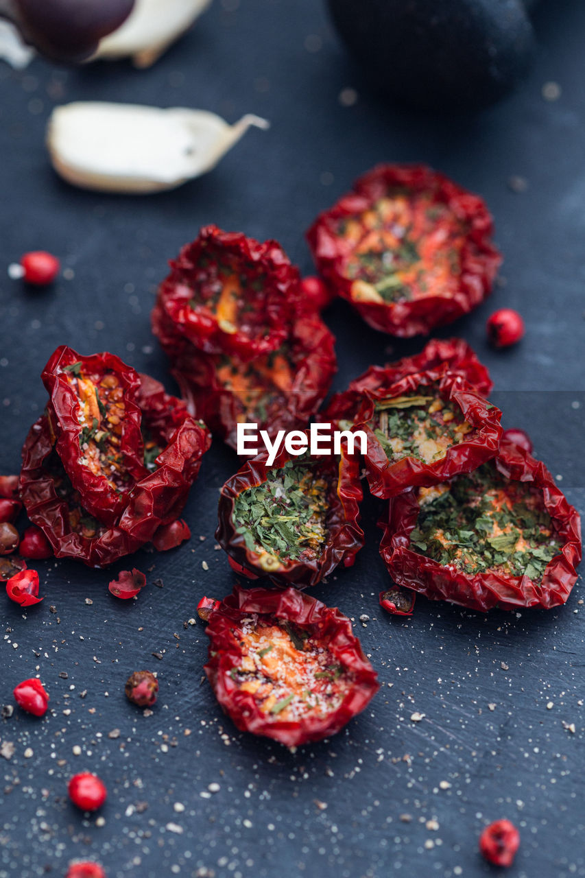
<svg viewBox="0 0 585 878"><path fill-rule="evenodd" d="M359 378L354 378L346 391L334 393L325 411L321 413L321 421L353 421L362 405L366 391L377 392L415 372L432 370L449 370L461 375L473 390L481 396L488 396L493 382L483 363L477 358L475 351L461 338L433 338L424 346L420 354L403 356L394 363L385 366L370 366Z"/></svg>

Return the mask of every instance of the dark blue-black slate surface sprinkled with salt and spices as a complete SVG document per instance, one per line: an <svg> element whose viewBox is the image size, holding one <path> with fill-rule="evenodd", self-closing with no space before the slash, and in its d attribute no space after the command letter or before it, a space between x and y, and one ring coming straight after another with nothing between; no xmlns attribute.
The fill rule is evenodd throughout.
<svg viewBox="0 0 585 878"><path fill-rule="evenodd" d="M308 271L303 230L319 209L375 162L423 160L488 199L505 255L506 284L443 335L472 342L507 425L531 431L570 500L585 507L585 8L544 4L537 25L530 79L475 119L386 106L350 67L314 0L216 0L145 72L123 63L0 66L0 471L18 468L44 405L40 370L62 342L110 349L171 386L148 313L166 260L200 224L274 236ZM541 94L550 80L562 89L554 102ZM350 106L340 101L345 89L358 90ZM352 97L343 93L345 103ZM61 184L43 148L51 107L76 98L185 104L230 120L256 112L272 126L251 131L218 169L179 191L103 197ZM510 191L510 176L528 189ZM9 280L7 265L29 248L61 255L69 277L47 291ZM521 309L528 331L516 349L496 353L483 327L503 305ZM374 333L341 303L327 319L339 388L371 362L422 346ZM213 447L185 511L191 543L133 558L149 576L138 601L115 601L107 572L73 562L39 565L46 599L38 607L23 614L4 601L0 699L11 702L12 687L39 672L51 711L39 721L16 710L0 723L2 743L14 745L12 758L0 759L0 878L61 875L77 857L101 860L109 878L477 876L490 872L476 853L479 833L504 816L522 832L510 874L585 874L580 586L550 613L485 617L419 600L411 620L391 618L378 607L387 582L378 508L366 503L367 548L314 594L356 620L371 616L363 628L357 621L358 633L384 685L335 739L291 754L237 733L221 715L201 681L203 626L184 628L201 594L219 597L233 581L213 529L218 487L235 467L231 451ZM142 667L161 684L148 717L123 694L126 676ZM415 711L424 714L418 723ZM65 797L69 775L83 769L108 786L99 817L83 819ZM210 794L214 783L220 790Z"/></svg>

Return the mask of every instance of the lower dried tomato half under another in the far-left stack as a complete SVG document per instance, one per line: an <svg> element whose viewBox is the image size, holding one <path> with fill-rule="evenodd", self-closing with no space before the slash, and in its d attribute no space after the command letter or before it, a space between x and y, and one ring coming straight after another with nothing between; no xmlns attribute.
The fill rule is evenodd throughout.
<svg viewBox="0 0 585 878"><path fill-rule="evenodd" d="M180 399L154 378L139 376L135 403L141 412L147 475L126 492L112 526L89 514L71 485L56 449L47 415L32 425L23 448L22 497L32 522L51 543L55 557L105 566L148 543L161 525L175 521L197 478L210 435Z"/></svg>

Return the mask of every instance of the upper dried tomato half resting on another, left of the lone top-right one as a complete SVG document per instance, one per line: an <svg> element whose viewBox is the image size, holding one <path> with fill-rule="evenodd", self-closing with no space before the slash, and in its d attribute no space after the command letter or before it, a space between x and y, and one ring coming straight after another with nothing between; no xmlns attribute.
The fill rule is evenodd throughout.
<svg viewBox="0 0 585 878"><path fill-rule="evenodd" d="M299 271L276 241L206 226L170 263L153 331L169 356L185 345L251 359L277 350L300 302Z"/></svg>

